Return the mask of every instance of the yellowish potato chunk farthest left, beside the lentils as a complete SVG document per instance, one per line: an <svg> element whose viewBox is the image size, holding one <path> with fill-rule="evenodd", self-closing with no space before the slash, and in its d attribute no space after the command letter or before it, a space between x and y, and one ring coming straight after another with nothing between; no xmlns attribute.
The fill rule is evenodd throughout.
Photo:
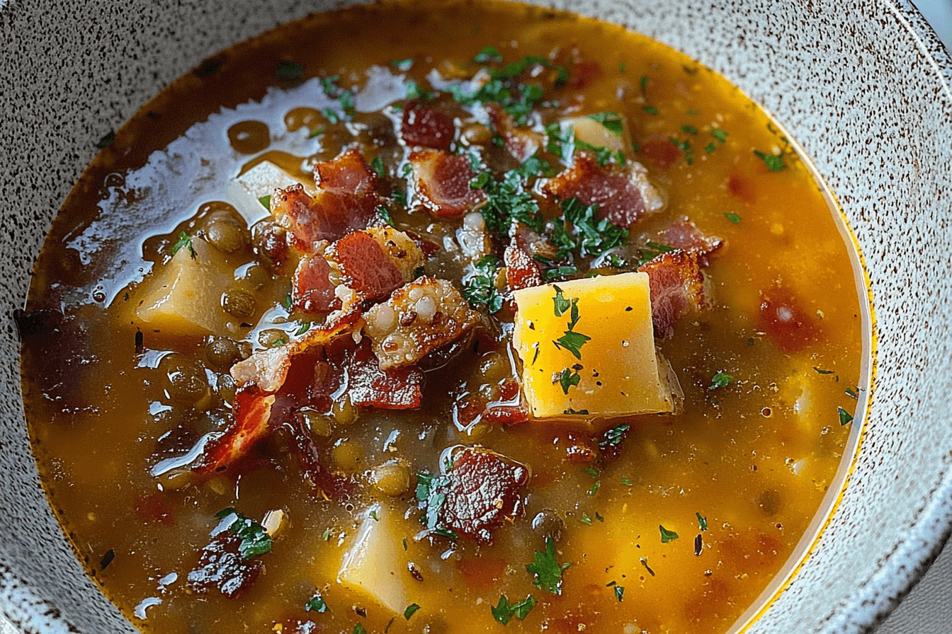
<svg viewBox="0 0 952 634"><path fill-rule="evenodd" d="M234 280L234 267L220 251L199 238L156 267L135 294L135 317L169 335L223 335L230 317L222 294Z"/></svg>

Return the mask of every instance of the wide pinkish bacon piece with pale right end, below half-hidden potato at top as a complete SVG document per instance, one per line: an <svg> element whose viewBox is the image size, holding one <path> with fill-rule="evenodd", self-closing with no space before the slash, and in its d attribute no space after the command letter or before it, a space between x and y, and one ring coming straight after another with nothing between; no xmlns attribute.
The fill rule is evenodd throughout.
<svg viewBox="0 0 952 634"><path fill-rule="evenodd" d="M628 161L624 168L613 163L600 165L589 152L580 152L575 163L545 183L543 189L562 200L577 198L585 204L597 204L599 216L623 227L664 207L661 194L648 181L641 163Z"/></svg>

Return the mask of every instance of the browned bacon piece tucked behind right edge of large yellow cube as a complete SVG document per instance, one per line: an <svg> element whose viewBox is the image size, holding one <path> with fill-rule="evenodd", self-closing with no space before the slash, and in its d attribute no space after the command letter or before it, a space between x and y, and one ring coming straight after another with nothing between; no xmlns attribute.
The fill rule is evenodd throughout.
<svg viewBox="0 0 952 634"><path fill-rule="evenodd" d="M648 274L655 336L674 335L674 324L689 311L710 308L709 292L696 253L675 249L638 267Z"/></svg>

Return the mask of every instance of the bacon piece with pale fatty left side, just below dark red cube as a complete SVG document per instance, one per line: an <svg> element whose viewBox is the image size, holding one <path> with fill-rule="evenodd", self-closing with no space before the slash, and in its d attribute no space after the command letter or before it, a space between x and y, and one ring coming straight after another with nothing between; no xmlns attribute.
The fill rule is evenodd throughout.
<svg viewBox="0 0 952 634"><path fill-rule="evenodd" d="M466 156L441 150L420 150L409 157L413 183L423 206L439 218L459 218L486 201L469 182L476 176Z"/></svg>

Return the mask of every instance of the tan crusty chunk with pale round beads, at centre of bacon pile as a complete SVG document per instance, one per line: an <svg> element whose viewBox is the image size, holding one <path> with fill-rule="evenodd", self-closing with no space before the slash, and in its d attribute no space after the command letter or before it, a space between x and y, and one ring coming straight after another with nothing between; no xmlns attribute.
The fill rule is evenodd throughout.
<svg viewBox="0 0 952 634"><path fill-rule="evenodd" d="M364 317L383 370L416 363L479 321L479 313L450 282L433 278L405 284Z"/></svg>

